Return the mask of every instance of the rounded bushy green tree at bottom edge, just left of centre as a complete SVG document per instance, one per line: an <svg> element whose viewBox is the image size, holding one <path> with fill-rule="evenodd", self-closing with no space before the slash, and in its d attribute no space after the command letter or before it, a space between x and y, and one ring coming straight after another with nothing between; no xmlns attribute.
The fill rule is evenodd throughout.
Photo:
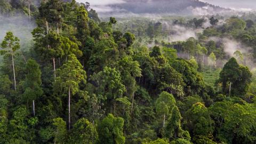
<svg viewBox="0 0 256 144"><path fill-rule="evenodd" d="M102 144L124 144L123 126L123 118L108 114L98 126L99 142Z"/></svg>

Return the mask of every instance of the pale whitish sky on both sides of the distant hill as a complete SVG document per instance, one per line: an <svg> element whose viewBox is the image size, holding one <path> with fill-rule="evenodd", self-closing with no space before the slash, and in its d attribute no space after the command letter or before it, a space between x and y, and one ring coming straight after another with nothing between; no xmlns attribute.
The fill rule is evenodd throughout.
<svg viewBox="0 0 256 144"><path fill-rule="evenodd" d="M93 5L107 5L122 3L123 0L77 0L78 2L89 2L93 8ZM155 0L157 1L157 0ZM210 4L219 5L234 10L250 11L256 10L256 0L200 0Z"/></svg>

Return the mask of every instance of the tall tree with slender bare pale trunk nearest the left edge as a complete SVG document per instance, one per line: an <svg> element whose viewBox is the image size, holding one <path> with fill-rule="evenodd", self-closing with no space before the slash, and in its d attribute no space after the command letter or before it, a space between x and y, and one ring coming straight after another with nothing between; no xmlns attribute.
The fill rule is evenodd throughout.
<svg viewBox="0 0 256 144"><path fill-rule="evenodd" d="M0 51L1 55L11 55L12 57L12 69L13 69L13 81L14 81L14 90L16 91L16 77L15 77L15 67L14 67L14 54L17 50L20 49L19 44L20 39L13 35L11 31L7 32L1 47L3 50Z"/></svg>

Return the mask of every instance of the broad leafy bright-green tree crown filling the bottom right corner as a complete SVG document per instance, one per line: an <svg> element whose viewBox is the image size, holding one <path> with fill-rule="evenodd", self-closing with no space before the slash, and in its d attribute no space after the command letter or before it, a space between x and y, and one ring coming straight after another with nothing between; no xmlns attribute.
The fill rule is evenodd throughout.
<svg viewBox="0 0 256 144"><path fill-rule="evenodd" d="M236 97L214 103L209 112L215 121L215 138L225 143L253 143L256 123L253 105Z"/></svg>

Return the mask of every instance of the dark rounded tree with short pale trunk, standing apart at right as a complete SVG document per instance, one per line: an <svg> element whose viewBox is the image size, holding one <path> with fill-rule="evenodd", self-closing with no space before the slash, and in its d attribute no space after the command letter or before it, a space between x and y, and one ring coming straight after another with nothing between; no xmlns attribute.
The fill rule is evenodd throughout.
<svg viewBox="0 0 256 144"><path fill-rule="evenodd" d="M219 81L222 83L222 92L228 93L229 96L241 97L247 92L251 77L249 68L238 65L235 58L229 59L220 72Z"/></svg>

